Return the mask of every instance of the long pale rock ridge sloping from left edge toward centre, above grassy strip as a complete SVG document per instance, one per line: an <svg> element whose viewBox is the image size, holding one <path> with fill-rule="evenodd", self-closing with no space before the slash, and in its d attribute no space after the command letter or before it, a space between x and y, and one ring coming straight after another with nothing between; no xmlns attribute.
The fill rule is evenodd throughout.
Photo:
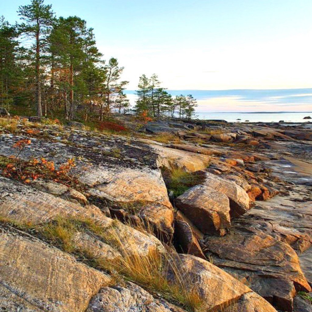
<svg viewBox="0 0 312 312"><path fill-rule="evenodd" d="M112 236L114 246L117 242L130 254L149 255L155 251L163 252L164 250L162 244L154 236L143 234L106 217L94 205L82 207L3 177L0 177L0 214L12 221L32 225L46 223L59 217L90 219L105 229L108 236Z"/></svg>

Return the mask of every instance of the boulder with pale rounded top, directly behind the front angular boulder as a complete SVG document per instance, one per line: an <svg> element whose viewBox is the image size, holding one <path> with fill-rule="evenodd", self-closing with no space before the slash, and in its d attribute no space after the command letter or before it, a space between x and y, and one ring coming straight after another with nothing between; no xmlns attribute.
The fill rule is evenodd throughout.
<svg viewBox="0 0 312 312"><path fill-rule="evenodd" d="M240 216L250 208L250 200L248 194L235 182L220 178L215 174L206 172L205 180L202 184L213 188L215 191L222 193L229 198L231 217Z"/></svg>

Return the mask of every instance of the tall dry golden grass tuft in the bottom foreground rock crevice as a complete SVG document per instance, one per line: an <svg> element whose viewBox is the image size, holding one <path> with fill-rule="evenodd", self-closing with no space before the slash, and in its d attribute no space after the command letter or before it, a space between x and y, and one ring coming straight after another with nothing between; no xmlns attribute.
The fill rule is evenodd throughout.
<svg viewBox="0 0 312 312"><path fill-rule="evenodd" d="M181 271L175 251L165 254L154 251L146 256L133 250L129 252L120 240L118 245L122 256L113 266L119 274L152 293L161 293L164 299L188 311L201 311L203 299L190 276Z"/></svg>

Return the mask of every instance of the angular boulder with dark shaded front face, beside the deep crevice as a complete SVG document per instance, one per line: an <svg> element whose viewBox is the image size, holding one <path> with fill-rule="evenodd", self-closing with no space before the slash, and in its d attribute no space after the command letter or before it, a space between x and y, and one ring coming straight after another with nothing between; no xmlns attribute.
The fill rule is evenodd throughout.
<svg viewBox="0 0 312 312"><path fill-rule="evenodd" d="M228 197L206 185L188 189L176 206L205 234L222 233L231 226Z"/></svg>

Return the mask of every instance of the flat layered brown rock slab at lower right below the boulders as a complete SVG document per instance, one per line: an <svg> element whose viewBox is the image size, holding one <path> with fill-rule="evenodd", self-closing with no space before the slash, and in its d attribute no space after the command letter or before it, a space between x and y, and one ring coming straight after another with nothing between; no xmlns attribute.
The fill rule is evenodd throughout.
<svg viewBox="0 0 312 312"><path fill-rule="evenodd" d="M212 252L217 266L292 280L297 290L311 289L300 269L295 251L272 236L235 230L224 237L207 236L205 245Z"/></svg>

